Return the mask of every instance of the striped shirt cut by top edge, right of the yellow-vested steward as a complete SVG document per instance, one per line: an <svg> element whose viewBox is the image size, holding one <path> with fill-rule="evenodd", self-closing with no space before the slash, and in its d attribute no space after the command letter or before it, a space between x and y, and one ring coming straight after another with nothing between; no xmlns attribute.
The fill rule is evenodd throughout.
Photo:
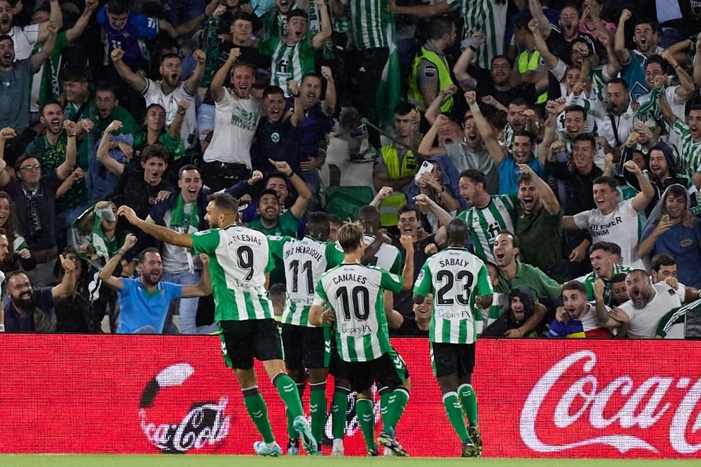
<svg viewBox="0 0 701 467"><path fill-rule="evenodd" d="M488 70L491 59L504 53L507 0L448 0L450 8L460 8L463 16L463 39L482 31L486 43L475 52L472 63Z"/></svg>

